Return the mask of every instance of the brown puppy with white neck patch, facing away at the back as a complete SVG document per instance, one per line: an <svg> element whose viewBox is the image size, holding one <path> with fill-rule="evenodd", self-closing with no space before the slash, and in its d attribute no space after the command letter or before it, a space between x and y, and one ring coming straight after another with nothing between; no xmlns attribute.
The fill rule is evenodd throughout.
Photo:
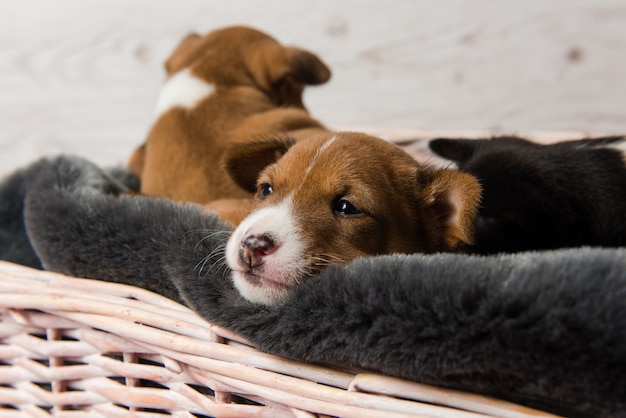
<svg viewBox="0 0 626 418"><path fill-rule="evenodd" d="M259 136L324 131L304 108L302 92L326 82L330 70L308 51L240 26L187 36L165 68L155 122L129 168L143 194L218 201L212 208L236 224L251 196L225 173L224 150Z"/></svg>

